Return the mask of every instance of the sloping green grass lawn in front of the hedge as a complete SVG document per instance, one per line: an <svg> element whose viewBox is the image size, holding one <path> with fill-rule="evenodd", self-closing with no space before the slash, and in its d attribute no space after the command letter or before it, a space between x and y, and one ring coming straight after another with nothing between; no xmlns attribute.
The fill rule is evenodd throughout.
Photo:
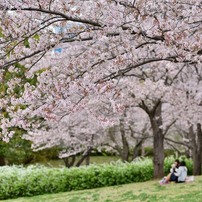
<svg viewBox="0 0 202 202"><path fill-rule="evenodd" d="M194 182L160 186L158 181L132 183L35 197L24 197L5 202L202 202L202 176Z"/></svg>

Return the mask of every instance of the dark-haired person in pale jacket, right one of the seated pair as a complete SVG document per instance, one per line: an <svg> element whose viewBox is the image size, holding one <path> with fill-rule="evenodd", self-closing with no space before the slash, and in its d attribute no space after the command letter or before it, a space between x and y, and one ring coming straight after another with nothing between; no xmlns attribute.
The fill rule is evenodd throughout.
<svg viewBox="0 0 202 202"><path fill-rule="evenodd" d="M176 172L169 173L167 177L165 177L160 184L167 184L170 181L174 181L177 183L185 182L187 177L187 167L184 161L180 162L179 168Z"/></svg>

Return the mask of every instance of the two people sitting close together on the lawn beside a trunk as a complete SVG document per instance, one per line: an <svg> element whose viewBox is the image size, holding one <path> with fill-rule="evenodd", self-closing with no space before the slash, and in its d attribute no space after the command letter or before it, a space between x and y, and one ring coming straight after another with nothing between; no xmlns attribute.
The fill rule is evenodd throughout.
<svg viewBox="0 0 202 202"><path fill-rule="evenodd" d="M184 161L175 160L170 169L170 173L164 177L160 184L167 184L169 182L185 182L187 177L187 167Z"/></svg>

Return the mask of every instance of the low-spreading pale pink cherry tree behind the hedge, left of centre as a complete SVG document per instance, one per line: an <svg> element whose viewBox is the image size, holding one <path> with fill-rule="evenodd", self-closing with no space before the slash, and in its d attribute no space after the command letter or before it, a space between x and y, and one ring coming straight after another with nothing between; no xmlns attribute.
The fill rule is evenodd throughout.
<svg viewBox="0 0 202 202"><path fill-rule="evenodd" d="M98 121L89 120L86 110L64 117L60 122L48 122L45 128L29 131L23 138L32 142L34 151L57 146L59 157L67 167L80 166L89 157L92 150L98 149L103 141L103 128ZM76 161L76 156L80 159Z"/></svg>

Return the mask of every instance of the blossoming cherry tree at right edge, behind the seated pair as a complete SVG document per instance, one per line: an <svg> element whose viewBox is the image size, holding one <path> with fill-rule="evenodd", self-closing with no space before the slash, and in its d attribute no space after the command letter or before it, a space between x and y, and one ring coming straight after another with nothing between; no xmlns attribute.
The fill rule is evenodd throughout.
<svg viewBox="0 0 202 202"><path fill-rule="evenodd" d="M174 105L178 111L177 125L184 131L184 141L190 148L194 174L201 174L202 166L202 71L197 65L185 68L177 85L180 99Z"/></svg>

